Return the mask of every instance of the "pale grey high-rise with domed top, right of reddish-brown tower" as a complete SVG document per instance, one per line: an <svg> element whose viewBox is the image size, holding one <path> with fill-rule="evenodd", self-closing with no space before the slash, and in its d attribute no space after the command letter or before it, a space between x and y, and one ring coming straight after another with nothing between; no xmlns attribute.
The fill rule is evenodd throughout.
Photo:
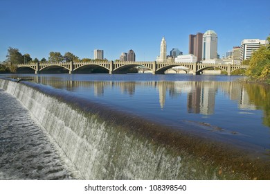
<svg viewBox="0 0 270 194"><path fill-rule="evenodd" d="M203 36L202 60L217 58L217 33L214 30L207 30Z"/></svg>

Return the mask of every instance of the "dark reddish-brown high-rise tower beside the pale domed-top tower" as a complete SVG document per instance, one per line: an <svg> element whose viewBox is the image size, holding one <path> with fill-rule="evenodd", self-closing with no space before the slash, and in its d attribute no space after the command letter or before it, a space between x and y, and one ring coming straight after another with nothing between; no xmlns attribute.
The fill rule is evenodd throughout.
<svg viewBox="0 0 270 194"><path fill-rule="evenodd" d="M197 35L190 35L190 43L188 53L197 57L197 62L201 61L202 55L202 39L203 33L197 33Z"/></svg>

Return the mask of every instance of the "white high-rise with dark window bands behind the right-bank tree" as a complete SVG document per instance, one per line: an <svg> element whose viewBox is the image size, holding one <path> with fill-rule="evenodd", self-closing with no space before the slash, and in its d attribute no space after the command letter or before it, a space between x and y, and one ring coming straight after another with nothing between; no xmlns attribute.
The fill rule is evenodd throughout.
<svg viewBox="0 0 270 194"><path fill-rule="evenodd" d="M251 58L252 53L265 44L267 44L265 39L243 39L241 42L240 61Z"/></svg>

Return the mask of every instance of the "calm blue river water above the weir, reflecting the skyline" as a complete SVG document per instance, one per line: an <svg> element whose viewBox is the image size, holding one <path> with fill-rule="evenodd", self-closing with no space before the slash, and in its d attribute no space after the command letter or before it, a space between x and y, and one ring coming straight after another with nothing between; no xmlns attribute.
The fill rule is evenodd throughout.
<svg viewBox="0 0 270 194"><path fill-rule="evenodd" d="M114 111L121 112L121 114L125 114L127 120L136 118L137 123L138 121L152 122L156 126L169 127L188 135L192 134L196 137L195 139L201 138L206 139L206 141L222 142L228 145L230 149L233 148L239 150L242 154L244 153L244 156L248 155L250 158L260 159L260 162L262 161L264 164L268 165L270 161L270 88L265 85L246 83L243 81L244 77L241 76L152 75L147 73L125 75L19 74L8 76L11 78L18 76L20 78L32 78L33 81L31 82L37 83L37 85L45 85L45 90L63 91L63 94L77 96L80 99L87 100L87 102L98 103L102 107L109 107L111 114L114 114ZM111 116L108 110L107 114ZM117 120L117 118L114 119ZM125 122L123 121L123 123ZM165 138L163 140L157 139L156 141L162 141L162 143L166 141ZM109 140L107 139L107 141ZM113 139L110 141L113 141ZM57 144L60 145L61 143ZM177 143L175 145L178 146ZM204 147L204 143L201 145L198 143L197 146ZM222 146L224 145L222 144ZM62 148L61 145L60 147ZM188 150L191 146L186 145L186 147L185 149ZM213 151L213 148L209 149ZM224 149L221 152L228 150L227 148ZM214 150L213 153L217 150ZM104 152L103 150L102 153L104 154ZM192 150L191 152L199 151ZM69 154L66 155L69 157ZM185 159L183 159L183 155L181 156L180 160L184 162ZM226 159L219 160L225 161ZM174 162L177 164L177 159ZM112 163L110 160L111 165ZM243 166L244 161L240 161L240 164ZM134 162L130 165L134 165ZM184 166L184 164L181 164L181 166ZM118 168L123 167L118 166ZM143 167L141 166L141 168ZM191 170L194 173L195 171L198 172L198 169L192 167ZM206 175L206 177L198 174L195 177L188 177L188 175L185 177L185 173L181 171L181 175L183 175L181 178L226 179L226 177L219 177L220 170L217 168L215 170L217 170L215 173ZM111 173L110 170L107 171ZM118 173L114 172L107 175L109 179L176 178L164 177L163 175L160 177L157 175L152 177L141 175L140 177L134 176L131 172L123 173L123 171L125 170L122 170L120 174L117 171ZM187 173L187 171L185 172ZM91 177L88 174L83 176L86 179L108 178ZM246 178L245 176L246 174L240 176L240 179ZM239 177L227 178L238 179ZM265 177L262 177L262 179L265 179Z"/></svg>

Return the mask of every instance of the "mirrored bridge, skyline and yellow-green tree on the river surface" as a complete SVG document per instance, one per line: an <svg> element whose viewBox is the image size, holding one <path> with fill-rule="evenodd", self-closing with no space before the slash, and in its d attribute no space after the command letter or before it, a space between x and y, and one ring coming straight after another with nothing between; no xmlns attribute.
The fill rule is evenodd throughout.
<svg viewBox="0 0 270 194"><path fill-rule="evenodd" d="M35 82L69 91L91 93L92 89L93 96L96 97L111 95L112 91L117 93L117 89L120 89L120 94L117 93L117 95L133 97L144 88L148 89L144 91L145 93L153 94L153 91L159 93L161 110L165 109L167 100L169 102L171 99L181 96L180 103L186 104L187 113L206 116L215 114L215 109L223 108L222 103L229 99L237 103L238 114L253 114L249 110L262 109L263 123L270 126L270 87L267 85L238 81L76 81L55 77L34 77L34 79ZM222 96L221 99L218 99L218 103L217 96ZM183 97L186 98L186 102L183 102L185 100ZM139 100L145 101L144 98Z"/></svg>

